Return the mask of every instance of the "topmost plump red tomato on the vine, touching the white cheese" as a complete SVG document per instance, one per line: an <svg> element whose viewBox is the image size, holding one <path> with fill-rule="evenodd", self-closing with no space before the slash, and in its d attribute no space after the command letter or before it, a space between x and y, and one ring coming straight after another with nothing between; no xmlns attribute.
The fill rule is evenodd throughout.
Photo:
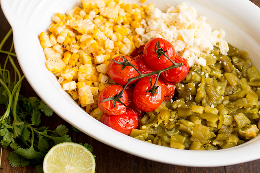
<svg viewBox="0 0 260 173"><path fill-rule="evenodd" d="M159 49L157 48L158 44ZM175 59L176 55L174 47L167 40L163 38L153 38L149 40L144 46L144 61L155 70L161 70L172 65L172 62L167 57L158 54L159 50L166 51L166 55L172 60Z"/></svg>

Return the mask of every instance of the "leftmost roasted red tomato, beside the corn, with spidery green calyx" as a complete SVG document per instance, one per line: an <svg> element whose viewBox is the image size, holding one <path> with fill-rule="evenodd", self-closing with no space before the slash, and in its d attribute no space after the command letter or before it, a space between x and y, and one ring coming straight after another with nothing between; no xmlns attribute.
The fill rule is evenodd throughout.
<svg viewBox="0 0 260 173"><path fill-rule="evenodd" d="M109 115L118 115L124 113L126 111L126 107L121 103L116 101L115 107L113 107L112 100L102 102L102 100L104 99L107 99L109 97L114 97L116 94L120 93L122 89L123 88L118 85L109 85L105 87L99 94L99 101L98 101L99 109L102 112L107 113ZM129 105L126 91L124 91L122 97L119 100L122 101L122 103L124 103L126 106Z"/></svg>

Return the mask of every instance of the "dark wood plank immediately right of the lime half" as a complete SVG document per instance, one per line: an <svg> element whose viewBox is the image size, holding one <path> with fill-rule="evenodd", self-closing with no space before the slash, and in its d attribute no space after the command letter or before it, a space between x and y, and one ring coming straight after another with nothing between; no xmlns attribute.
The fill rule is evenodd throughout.
<svg viewBox="0 0 260 173"><path fill-rule="evenodd" d="M150 161L117 150L103 144L84 133L77 134L78 143L88 143L93 146L96 155L96 172L111 173L149 173Z"/></svg>

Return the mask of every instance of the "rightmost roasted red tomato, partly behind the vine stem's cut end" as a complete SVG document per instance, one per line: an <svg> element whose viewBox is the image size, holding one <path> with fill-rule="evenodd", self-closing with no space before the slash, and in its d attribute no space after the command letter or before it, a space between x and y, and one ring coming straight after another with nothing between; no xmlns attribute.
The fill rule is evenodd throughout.
<svg viewBox="0 0 260 173"><path fill-rule="evenodd" d="M165 72L161 73L161 77L166 82L176 84L180 83L186 78L187 74L190 71L190 67L187 61L181 56L176 55L176 58L173 61L175 63L182 63L183 66L166 70Z"/></svg>

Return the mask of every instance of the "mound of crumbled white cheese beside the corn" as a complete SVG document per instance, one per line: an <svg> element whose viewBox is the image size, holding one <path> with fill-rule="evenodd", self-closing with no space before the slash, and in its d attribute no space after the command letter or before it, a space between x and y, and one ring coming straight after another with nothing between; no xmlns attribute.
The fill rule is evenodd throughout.
<svg viewBox="0 0 260 173"><path fill-rule="evenodd" d="M166 13L154 8L147 14L146 22L142 21L142 26L135 29L143 43L155 37L164 38L172 43L177 55L186 59L189 66L205 66L205 59L199 56L201 53L210 53L213 46L220 48L221 54L227 55L229 47L224 40L225 31L213 31L206 17L197 16L194 7L181 3L169 7Z"/></svg>

